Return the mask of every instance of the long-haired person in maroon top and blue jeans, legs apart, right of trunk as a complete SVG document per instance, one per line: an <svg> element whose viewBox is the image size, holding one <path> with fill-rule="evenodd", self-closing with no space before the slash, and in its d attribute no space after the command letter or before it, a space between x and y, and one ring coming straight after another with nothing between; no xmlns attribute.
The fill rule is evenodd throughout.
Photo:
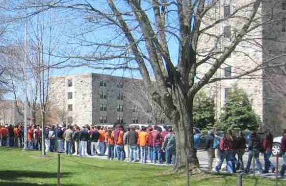
<svg viewBox="0 0 286 186"><path fill-rule="evenodd" d="M230 173L233 173L232 168L232 138L229 131L227 131L223 137L220 139L220 160L218 164L215 167L215 172L219 172L221 169L221 166L223 164L224 159L226 159L226 170Z"/></svg>

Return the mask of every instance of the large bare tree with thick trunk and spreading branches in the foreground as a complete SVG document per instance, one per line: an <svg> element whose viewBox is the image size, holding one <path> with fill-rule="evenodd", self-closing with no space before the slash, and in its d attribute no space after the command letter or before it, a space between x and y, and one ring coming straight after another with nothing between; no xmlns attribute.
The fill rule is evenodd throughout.
<svg viewBox="0 0 286 186"><path fill-rule="evenodd" d="M196 93L222 80L261 78L266 68L281 72L285 65L285 51L277 47L284 43L281 3L236 1L223 11L219 0L28 1L26 6L38 7L30 14L53 9L76 19L72 25L66 22L70 37L65 44L73 53L54 53L72 59L71 66L139 71L148 96L176 126L175 170L182 171L187 165L198 167L193 142ZM229 28L222 32L222 24L233 26L231 32ZM253 49L263 53L263 61L245 52ZM231 53L241 53L247 61L233 65L235 76L218 76Z"/></svg>

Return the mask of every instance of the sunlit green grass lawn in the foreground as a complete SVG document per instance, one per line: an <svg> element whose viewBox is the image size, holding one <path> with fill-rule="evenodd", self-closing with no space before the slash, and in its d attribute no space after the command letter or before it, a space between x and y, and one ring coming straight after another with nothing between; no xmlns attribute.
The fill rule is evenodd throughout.
<svg viewBox="0 0 286 186"><path fill-rule="evenodd" d="M57 157L37 158L39 151L0 147L0 186L57 185ZM118 160L104 160L65 156L61 159L61 185L187 185L186 175L167 174L170 167L130 164ZM200 173L191 177L191 185L236 185L237 175ZM275 185L266 178L243 177L243 185ZM279 181L278 185L286 185Z"/></svg>

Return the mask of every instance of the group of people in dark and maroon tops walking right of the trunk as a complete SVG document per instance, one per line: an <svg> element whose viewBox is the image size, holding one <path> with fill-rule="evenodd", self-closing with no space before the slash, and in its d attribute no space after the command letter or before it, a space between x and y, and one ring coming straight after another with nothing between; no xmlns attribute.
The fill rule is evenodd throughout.
<svg viewBox="0 0 286 186"><path fill-rule="evenodd" d="M209 131L205 140L205 149L208 155L208 168L213 168L213 171L219 172L222 168L224 160L226 161L225 170L230 173L236 171L249 172L252 158L255 158L256 167L259 173L268 173L269 170L275 171L275 166L270 161L272 154L273 135L269 130L265 131L266 137L264 139L259 138L256 131L251 131L251 136L248 142L244 136L243 131L231 131L228 130L223 136L218 135L219 131ZM285 136L286 137L286 136ZM285 138L286 139L286 138ZM246 144L248 144L248 160L246 167L244 167L243 155L246 151ZM259 160L259 154L262 153L264 157L264 170L262 168L261 161ZM213 162L215 158L215 162ZM286 169L286 166L285 166ZM281 170L280 174L283 175L284 171Z"/></svg>

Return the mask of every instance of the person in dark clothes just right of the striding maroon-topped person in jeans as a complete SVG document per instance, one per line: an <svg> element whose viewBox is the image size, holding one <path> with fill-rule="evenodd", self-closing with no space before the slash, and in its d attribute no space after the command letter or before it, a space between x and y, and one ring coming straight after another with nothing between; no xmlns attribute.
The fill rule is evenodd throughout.
<svg viewBox="0 0 286 186"><path fill-rule="evenodd" d="M243 131L239 131L238 135L238 164L237 164L237 170L244 171L244 163L243 163L243 155L245 153L246 149L246 139L244 137Z"/></svg>

